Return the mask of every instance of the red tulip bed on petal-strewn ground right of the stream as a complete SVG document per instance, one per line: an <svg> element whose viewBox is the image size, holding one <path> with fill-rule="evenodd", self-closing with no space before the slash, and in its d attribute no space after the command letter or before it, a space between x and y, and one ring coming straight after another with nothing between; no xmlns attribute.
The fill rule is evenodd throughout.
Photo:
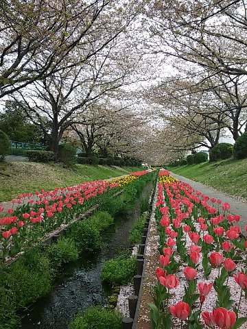
<svg viewBox="0 0 247 329"><path fill-rule="evenodd" d="M160 171L153 329L247 328L247 244L230 209Z"/></svg>

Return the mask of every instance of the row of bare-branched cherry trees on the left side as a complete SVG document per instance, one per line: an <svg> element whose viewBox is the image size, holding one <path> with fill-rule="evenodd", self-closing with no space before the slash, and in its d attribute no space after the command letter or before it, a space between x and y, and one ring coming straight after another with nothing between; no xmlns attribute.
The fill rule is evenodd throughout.
<svg viewBox="0 0 247 329"><path fill-rule="evenodd" d="M145 72L132 40L137 2L1 1L1 130L14 140L45 141L55 154L69 138L87 155L96 147L134 156L145 124L129 87Z"/></svg>

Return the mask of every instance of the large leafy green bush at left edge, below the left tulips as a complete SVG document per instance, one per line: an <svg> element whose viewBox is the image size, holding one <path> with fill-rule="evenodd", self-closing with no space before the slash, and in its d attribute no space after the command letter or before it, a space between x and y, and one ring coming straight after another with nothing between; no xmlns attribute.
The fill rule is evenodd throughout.
<svg viewBox="0 0 247 329"><path fill-rule="evenodd" d="M53 269L49 258L38 248L27 252L2 272L4 282L1 284L12 291L16 308L28 306L51 290Z"/></svg>

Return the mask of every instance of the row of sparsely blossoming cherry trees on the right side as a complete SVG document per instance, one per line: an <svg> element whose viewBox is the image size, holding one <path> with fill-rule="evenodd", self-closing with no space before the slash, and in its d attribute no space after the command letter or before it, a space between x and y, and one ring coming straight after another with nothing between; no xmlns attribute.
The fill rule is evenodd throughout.
<svg viewBox="0 0 247 329"><path fill-rule="evenodd" d="M169 160L247 131L245 0L151 1L148 47L172 73L144 95L163 121ZM154 111L155 109L155 111Z"/></svg>

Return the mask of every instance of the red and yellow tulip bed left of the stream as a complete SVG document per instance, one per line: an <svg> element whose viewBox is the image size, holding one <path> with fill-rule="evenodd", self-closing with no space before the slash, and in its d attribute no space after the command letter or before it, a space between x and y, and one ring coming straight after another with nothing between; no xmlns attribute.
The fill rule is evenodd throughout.
<svg viewBox="0 0 247 329"><path fill-rule="evenodd" d="M13 207L8 209L8 216L0 218L0 258L4 261L30 245L34 246L48 232L71 223L100 202L103 194L113 195L148 172L137 171L112 181L82 182L54 191L36 191L35 197L31 193L19 195L12 200ZM3 210L1 207L0 212Z"/></svg>

